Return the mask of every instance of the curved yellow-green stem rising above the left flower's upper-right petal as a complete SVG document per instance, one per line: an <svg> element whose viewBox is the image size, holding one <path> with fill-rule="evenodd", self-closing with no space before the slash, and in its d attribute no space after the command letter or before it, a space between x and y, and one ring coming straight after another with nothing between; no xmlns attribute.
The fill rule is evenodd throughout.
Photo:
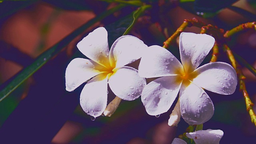
<svg viewBox="0 0 256 144"><path fill-rule="evenodd" d="M135 22L138 20L138 18L143 14L143 12L145 10L148 10L150 8L152 8L151 5L144 5L144 6L141 6L140 8L138 8L138 10L134 11L134 13L132 14L132 17L133 17L132 24L126 29L123 36L128 34L132 30L132 28L133 28Z"/></svg>

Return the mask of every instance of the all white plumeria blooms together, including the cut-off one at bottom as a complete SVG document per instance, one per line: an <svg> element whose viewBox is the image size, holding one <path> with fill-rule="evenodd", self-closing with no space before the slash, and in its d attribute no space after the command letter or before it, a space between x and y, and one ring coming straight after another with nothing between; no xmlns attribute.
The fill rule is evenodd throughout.
<svg viewBox="0 0 256 144"><path fill-rule="evenodd" d="M66 90L73 91L92 78L80 94L80 104L94 117L100 116L106 108L107 85L123 100L141 96L146 112L154 116L167 112L179 93L168 124L177 125L181 116L188 124L203 124L214 113L212 100L204 89L227 95L234 93L237 84L236 71L227 63L212 62L198 68L214 42L214 38L206 34L182 32L180 62L165 48L148 47L129 35L118 38L109 50L107 31L97 28L77 44L80 52L90 60L75 58L68 64ZM138 70L126 66L139 58ZM145 78L157 79L146 85ZM212 138L216 141L212 143L218 143L222 135L221 130L187 134L196 144ZM177 143L186 142L175 139L173 144Z"/></svg>

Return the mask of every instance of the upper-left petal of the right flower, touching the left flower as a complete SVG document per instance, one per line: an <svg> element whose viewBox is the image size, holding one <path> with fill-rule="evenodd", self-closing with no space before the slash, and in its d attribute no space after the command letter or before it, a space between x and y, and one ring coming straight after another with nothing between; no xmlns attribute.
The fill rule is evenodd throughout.
<svg viewBox="0 0 256 144"><path fill-rule="evenodd" d="M176 75L183 71L181 63L165 48L150 46L142 55L139 75L144 78Z"/></svg>

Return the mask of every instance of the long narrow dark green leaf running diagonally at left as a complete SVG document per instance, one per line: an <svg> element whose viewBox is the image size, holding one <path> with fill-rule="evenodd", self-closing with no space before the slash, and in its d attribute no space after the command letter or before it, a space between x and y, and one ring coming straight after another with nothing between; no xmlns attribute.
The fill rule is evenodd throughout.
<svg viewBox="0 0 256 144"><path fill-rule="evenodd" d="M60 42L52 46L49 50L38 56L38 58L29 66L24 68L10 83L7 84L5 88L0 91L0 101L2 101L6 96L8 96L11 92L13 92L22 82L28 79L32 74L34 74L39 68L41 68L48 60L52 57L56 56L60 50L62 50L65 46L68 45L76 36L84 32L87 28L95 24L96 22L104 19L106 16L120 10L125 5L118 5L110 10L106 10L102 12L102 14L98 15L96 18L90 20L86 24L82 25L80 28L76 29L74 32L69 34L67 37L62 39Z"/></svg>

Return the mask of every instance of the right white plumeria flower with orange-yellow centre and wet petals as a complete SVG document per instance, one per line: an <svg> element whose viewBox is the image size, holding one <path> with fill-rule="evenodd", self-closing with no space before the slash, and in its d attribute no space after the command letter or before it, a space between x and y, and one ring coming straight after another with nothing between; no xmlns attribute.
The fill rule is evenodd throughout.
<svg viewBox="0 0 256 144"><path fill-rule="evenodd" d="M145 86L142 102L150 115L167 112L180 91L180 112L188 124L202 124L213 113L206 90L232 94L236 90L236 71L224 62L212 62L197 68L210 52L214 38L206 34L180 34L182 64L168 50L150 46L142 55L139 75L158 78Z"/></svg>

